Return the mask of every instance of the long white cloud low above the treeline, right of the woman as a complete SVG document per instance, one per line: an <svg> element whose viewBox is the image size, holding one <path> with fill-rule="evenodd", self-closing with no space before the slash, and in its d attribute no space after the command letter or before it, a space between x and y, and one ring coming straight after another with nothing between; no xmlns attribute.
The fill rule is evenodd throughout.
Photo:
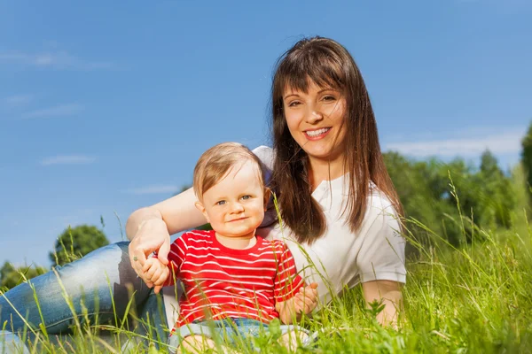
<svg viewBox="0 0 532 354"><path fill-rule="evenodd" d="M426 142L391 142L385 150L395 150L413 157L476 157L489 149L496 155L517 154L520 152L520 141L526 133L523 129L505 129L503 133L461 138L448 138Z"/></svg>

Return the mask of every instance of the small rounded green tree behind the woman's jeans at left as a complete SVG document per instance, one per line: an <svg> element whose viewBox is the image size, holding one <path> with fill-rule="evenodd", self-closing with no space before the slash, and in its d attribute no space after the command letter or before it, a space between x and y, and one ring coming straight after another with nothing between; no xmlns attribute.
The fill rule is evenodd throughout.
<svg viewBox="0 0 532 354"><path fill-rule="evenodd" d="M106 235L98 227L68 227L59 235L54 251L50 252L50 259L54 265L63 266L107 244L109 241Z"/></svg>

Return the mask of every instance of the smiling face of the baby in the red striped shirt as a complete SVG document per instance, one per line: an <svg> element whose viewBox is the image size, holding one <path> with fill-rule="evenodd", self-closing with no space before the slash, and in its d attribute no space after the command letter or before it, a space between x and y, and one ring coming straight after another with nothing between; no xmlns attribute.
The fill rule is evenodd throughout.
<svg viewBox="0 0 532 354"><path fill-rule="evenodd" d="M246 161L233 167L196 203L218 235L246 237L261 225L270 192L265 195L259 176L259 167Z"/></svg>

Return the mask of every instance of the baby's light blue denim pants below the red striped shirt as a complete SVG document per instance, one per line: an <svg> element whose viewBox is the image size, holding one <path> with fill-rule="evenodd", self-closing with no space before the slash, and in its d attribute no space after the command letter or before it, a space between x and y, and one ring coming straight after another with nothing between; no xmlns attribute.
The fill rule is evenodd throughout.
<svg viewBox="0 0 532 354"><path fill-rule="evenodd" d="M266 334L268 329L268 324L256 319L197 320L189 325L179 327L174 334L170 335L168 346L170 352L174 352L172 350L176 350L179 347L184 337L188 335L204 335L213 340L220 338L224 345L233 348L242 344L253 347L253 338ZM292 325L281 325L280 330L281 335L291 331L309 334L309 331L305 328Z"/></svg>

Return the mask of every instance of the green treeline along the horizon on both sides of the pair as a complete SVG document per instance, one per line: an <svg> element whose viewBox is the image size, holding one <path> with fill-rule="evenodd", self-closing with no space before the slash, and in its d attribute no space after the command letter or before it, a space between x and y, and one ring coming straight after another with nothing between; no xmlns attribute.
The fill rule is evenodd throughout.
<svg viewBox="0 0 532 354"><path fill-rule="evenodd" d="M480 165L463 158L443 163L436 158L413 160L397 152L384 154L390 177L403 203L405 230L413 242L427 245L428 233L459 246L481 237L479 230L510 229L523 212L530 215L532 185L532 124L521 141L520 164L503 171L486 150ZM184 189L188 189L188 186ZM64 265L108 244L97 227L67 228L50 252L54 266ZM0 268L0 290L46 272L40 266Z"/></svg>

